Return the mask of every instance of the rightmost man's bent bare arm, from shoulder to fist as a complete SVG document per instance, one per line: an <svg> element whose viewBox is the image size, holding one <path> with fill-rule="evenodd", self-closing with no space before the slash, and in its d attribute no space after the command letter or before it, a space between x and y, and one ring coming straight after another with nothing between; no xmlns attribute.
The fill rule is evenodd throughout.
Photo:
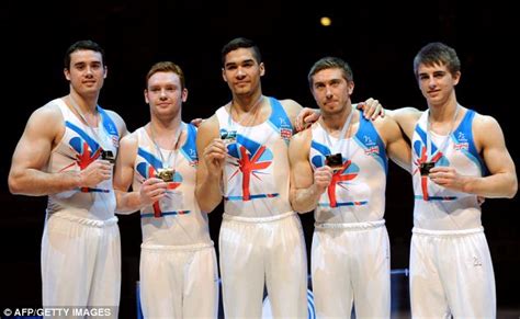
<svg viewBox="0 0 520 319"><path fill-rule="evenodd" d="M430 172L430 179L446 189L483 197L513 197L518 190L517 173L500 125L491 116L477 115L474 119L473 136L489 175L464 176L460 175L455 168L436 167Z"/></svg>

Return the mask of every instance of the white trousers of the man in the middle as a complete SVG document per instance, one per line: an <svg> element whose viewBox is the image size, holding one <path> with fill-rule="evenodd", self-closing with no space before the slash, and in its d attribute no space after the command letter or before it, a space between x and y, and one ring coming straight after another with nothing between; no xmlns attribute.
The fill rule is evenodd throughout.
<svg viewBox="0 0 520 319"><path fill-rule="evenodd" d="M224 214L219 235L227 319L261 318L264 284L273 318L307 318L307 257L299 217Z"/></svg>

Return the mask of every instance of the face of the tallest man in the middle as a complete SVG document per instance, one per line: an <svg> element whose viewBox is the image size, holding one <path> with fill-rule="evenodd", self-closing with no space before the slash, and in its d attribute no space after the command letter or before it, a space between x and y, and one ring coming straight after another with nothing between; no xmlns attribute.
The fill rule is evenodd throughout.
<svg viewBox="0 0 520 319"><path fill-rule="evenodd" d="M251 95L260 90L264 72L263 62L257 61L251 48L238 48L226 55L222 76L234 95Z"/></svg>

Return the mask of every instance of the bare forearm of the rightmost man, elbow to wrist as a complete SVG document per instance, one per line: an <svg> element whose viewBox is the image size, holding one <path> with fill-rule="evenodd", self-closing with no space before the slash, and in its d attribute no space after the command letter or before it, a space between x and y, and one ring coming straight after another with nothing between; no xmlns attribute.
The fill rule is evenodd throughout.
<svg viewBox="0 0 520 319"><path fill-rule="evenodd" d="M517 190L517 176L510 173L497 173L485 178L468 176L463 186L463 192L487 198L512 198Z"/></svg>

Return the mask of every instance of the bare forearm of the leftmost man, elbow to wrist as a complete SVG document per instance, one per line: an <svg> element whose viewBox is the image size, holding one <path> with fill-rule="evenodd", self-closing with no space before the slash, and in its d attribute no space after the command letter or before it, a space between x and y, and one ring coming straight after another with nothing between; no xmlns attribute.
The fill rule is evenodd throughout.
<svg viewBox="0 0 520 319"><path fill-rule="evenodd" d="M47 173L25 169L21 173L9 175L9 190L12 194L44 196L80 187L80 173L76 171Z"/></svg>

